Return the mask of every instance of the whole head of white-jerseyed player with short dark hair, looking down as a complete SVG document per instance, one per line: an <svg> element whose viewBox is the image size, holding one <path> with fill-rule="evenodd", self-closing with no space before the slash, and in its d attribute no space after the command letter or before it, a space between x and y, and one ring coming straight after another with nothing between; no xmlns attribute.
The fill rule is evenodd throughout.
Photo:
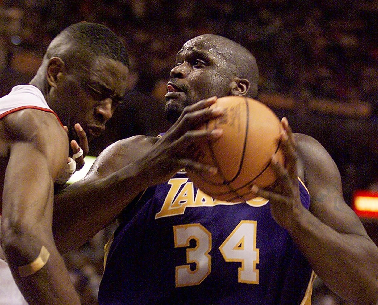
<svg viewBox="0 0 378 305"><path fill-rule="evenodd" d="M75 123L88 139L105 129L126 93L128 66L124 45L104 25L76 23L53 39L37 75L46 77L46 100L68 126L70 139L76 138Z"/></svg>

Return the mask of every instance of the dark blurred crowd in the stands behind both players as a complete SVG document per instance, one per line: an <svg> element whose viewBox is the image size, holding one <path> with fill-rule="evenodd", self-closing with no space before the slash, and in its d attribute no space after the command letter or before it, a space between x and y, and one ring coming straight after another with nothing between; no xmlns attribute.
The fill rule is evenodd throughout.
<svg viewBox="0 0 378 305"><path fill-rule="evenodd" d="M294 132L325 146L349 205L357 189L378 191L378 1L0 0L0 96L28 83L51 39L80 21L115 31L131 62L127 99L91 144L92 156L118 139L168 127L164 95L175 54L212 33L255 55L258 99L287 116ZM364 224L378 239L376 227ZM66 256L84 304L96 304L102 249L113 229ZM318 280L313 304L346 303Z"/></svg>

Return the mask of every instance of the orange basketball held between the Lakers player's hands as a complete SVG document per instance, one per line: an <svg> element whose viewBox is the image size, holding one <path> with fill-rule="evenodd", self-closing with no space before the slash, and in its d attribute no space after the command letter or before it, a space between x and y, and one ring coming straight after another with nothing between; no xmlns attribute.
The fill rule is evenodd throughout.
<svg viewBox="0 0 378 305"><path fill-rule="evenodd" d="M276 176L270 167L273 154L281 164L282 125L276 114L263 103L240 96L226 96L211 105L225 110L217 119L200 128L222 128L215 142L193 147L195 160L218 168L215 175L200 175L188 170L187 175L201 191L214 199L242 202L253 199L251 186L274 186Z"/></svg>

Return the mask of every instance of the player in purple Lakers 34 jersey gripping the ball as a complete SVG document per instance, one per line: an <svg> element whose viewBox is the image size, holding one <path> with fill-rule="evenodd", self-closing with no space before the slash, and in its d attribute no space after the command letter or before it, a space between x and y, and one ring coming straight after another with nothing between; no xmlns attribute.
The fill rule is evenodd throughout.
<svg viewBox="0 0 378 305"><path fill-rule="evenodd" d="M57 197L67 203L76 195L70 220L54 214L54 222L62 238L80 227L80 236L68 239L77 244L126 206L106 246L100 305L310 304L313 271L354 304L376 303L378 249L344 202L332 158L313 138L293 134L286 119L285 167L272 157L278 185L274 191L254 186L259 199L214 201L178 171L195 165L194 141L184 131L198 125L199 109L210 119L206 107L214 98L195 102L253 98L257 82L255 59L242 46L215 35L189 40L167 85L172 127L162 137L109 146L84 180ZM204 131L190 134L205 138ZM215 140L222 130L208 136Z"/></svg>

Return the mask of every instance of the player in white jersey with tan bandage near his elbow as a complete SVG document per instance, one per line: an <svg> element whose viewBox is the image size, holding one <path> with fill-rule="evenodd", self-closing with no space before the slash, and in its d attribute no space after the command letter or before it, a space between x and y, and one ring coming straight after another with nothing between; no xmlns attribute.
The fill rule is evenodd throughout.
<svg viewBox="0 0 378 305"><path fill-rule="evenodd" d="M0 99L2 258L29 304L80 303L53 240L53 184L75 170L72 160L67 164L68 141L78 140L76 132L98 136L125 95L127 76L118 37L105 26L77 23L50 43L28 85ZM0 260L2 304L25 303L11 285Z"/></svg>

